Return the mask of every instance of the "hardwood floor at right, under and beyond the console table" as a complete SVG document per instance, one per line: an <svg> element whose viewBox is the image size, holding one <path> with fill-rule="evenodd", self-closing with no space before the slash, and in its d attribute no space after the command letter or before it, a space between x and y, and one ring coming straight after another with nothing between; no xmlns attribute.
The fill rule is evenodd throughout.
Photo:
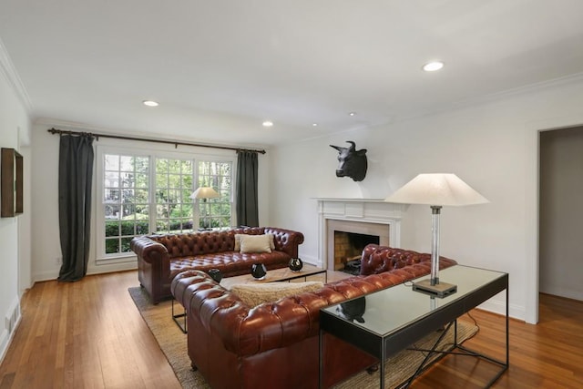
<svg viewBox="0 0 583 389"><path fill-rule="evenodd" d="M504 360L504 318L479 310L471 314L480 331L465 345ZM495 374L492 364L450 355L412 386L416 389L476 388ZM541 293L537 325L510 320L510 367L492 387L582 388L583 302Z"/></svg>

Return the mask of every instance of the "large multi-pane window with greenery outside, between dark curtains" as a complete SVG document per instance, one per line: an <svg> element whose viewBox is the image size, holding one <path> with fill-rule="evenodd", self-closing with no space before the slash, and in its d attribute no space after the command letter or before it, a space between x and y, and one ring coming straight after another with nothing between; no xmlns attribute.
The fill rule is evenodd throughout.
<svg viewBox="0 0 583 389"><path fill-rule="evenodd" d="M127 257L129 242L139 235L230 227L233 159L97 149L97 182L103 196L97 217L99 258ZM199 201L195 208L189 196L199 186L211 186L220 197Z"/></svg>

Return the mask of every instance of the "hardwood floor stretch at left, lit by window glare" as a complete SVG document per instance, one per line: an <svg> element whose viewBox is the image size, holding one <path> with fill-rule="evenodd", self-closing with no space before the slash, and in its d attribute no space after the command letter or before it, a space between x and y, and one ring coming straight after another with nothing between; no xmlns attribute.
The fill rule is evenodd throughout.
<svg viewBox="0 0 583 389"><path fill-rule="evenodd" d="M0 365L0 388L180 388L129 297L137 271L38 282Z"/></svg>

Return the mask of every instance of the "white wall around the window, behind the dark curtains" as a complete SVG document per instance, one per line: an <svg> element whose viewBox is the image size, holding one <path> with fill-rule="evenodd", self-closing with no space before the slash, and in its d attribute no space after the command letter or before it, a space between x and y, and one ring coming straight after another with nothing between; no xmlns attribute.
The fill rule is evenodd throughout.
<svg viewBox="0 0 583 389"><path fill-rule="evenodd" d="M35 242L32 247L32 279L33 281L41 280L55 280L58 276L60 264L57 259L62 257L61 246L58 232L58 147L59 137L51 135L47 132L49 128L61 128L69 130L87 131L84 128L64 128L59 126L59 123L49 123L44 121L43 124L36 124L32 131L32 152L35 156L32 167L33 178L33 196L32 203L34 209L34 224L32 226L32 236ZM121 134L115 129L94 130L98 133L111 133L117 135L127 135L131 137L139 136L139 134ZM151 138L151 137L145 137ZM178 139L176 139L178 140ZM119 140L112 138L99 138L94 141L94 147L98 145L103 146L118 146L143 148L145 150L162 150L162 151L176 151L172 145L162 145L149 142L136 142L129 140ZM220 150L215 148L192 148L188 146L179 146L180 152L190 152L197 154L205 154L210 156L233 156L234 151ZM260 223L269 220L268 207L269 194L267 192L267 174L269 172L269 158L270 152L259 157L259 177L260 177ZM97 163L97 153L96 153ZM136 257L130 255L124 262L115 264L97 264L97 248L96 248L96 220L97 220L97 201L100 196L97 194L96 185L97 171L94 169L93 174L93 210L91 214L91 245L89 249L89 261L87 264L87 274L95 274L107 271L120 271L128 269L136 269ZM138 283L138 278L136 278Z"/></svg>

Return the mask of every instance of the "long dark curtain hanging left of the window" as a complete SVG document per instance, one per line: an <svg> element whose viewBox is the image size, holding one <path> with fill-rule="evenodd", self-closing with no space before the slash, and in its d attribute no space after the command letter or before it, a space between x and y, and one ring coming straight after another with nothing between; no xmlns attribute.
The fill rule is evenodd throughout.
<svg viewBox="0 0 583 389"><path fill-rule="evenodd" d="M63 265L60 282L87 274L91 219L93 137L62 135L58 156L58 218Z"/></svg>

